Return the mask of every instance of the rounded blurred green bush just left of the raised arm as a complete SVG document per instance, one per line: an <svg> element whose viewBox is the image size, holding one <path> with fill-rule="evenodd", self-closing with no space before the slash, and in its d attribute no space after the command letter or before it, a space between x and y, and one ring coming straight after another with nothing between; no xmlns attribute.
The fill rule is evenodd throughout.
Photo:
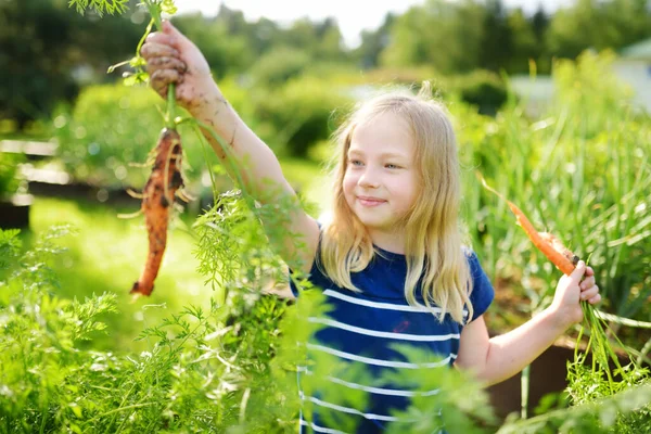
<svg viewBox="0 0 651 434"><path fill-rule="evenodd" d="M91 86L79 94L72 113L54 118L61 157L76 179L97 184L143 183L144 164L164 125L164 101L153 90L123 85ZM204 151L190 127L179 128L186 175L196 177Z"/></svg>

